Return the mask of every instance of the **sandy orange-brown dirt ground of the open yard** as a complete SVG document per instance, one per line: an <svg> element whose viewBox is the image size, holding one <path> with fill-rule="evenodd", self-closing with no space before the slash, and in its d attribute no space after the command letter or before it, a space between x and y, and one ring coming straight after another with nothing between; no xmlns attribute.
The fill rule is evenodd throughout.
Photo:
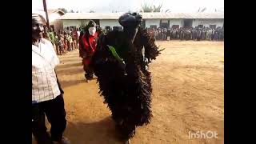
<svg viewBox="0 0 256 144"><path fill-rule="evenodd" d="M157 44L166 50L150 64L154 118L137 128L131 143L224 143L224 42ZM66 137L72 144L122 144L110 110L98 94L96 79L85 81L78 50L59 58ZM190 132L198 130L216 131L218 138L189 138Z"/></svg>

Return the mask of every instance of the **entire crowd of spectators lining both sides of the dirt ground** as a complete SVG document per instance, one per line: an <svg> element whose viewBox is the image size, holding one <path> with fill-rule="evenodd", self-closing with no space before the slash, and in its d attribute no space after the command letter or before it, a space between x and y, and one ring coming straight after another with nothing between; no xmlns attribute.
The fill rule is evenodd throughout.
<svg viewBox="0 0 256 144"><path fill-rule="evenodd" d="M66 54L72 50L78 50L78 39L82 28L69 28L64 30L54 31L51 27L43 33L43 38L48 39L54 46L56 54ZM210 28L210 27L180 27L180 28L146 28L151 38L162 41L170 40L194 40L194 41L223 41L224 28ZM107 34L112 29L103 29L102 33Z"/></svg>

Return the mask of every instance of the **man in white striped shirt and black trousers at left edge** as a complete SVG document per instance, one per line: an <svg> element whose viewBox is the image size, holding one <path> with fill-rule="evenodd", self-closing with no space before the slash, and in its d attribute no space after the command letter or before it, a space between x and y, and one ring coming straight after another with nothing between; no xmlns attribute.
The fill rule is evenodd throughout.
<svg viewBox="0 0 256 144"><path fill-rule="evenodd" d="M42 38L44 19L32 14L32 133L38 144L68 144L63 137L66 129L66 110L63 90L55 66L59 59L50 41ZM50 122L46 132L45 115Z"/></svg>

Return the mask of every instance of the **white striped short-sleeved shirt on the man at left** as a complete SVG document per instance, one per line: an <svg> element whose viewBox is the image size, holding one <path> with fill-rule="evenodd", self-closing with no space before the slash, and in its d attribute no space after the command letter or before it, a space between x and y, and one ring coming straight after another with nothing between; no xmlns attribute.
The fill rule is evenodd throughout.
<svg viewBox="0 0 256 144"><path fill-rule="evenodd" d="M32 103L48 101L61 94L54 71L58 64L50 41L42 38L38 46L32 45Z"/></svg>

